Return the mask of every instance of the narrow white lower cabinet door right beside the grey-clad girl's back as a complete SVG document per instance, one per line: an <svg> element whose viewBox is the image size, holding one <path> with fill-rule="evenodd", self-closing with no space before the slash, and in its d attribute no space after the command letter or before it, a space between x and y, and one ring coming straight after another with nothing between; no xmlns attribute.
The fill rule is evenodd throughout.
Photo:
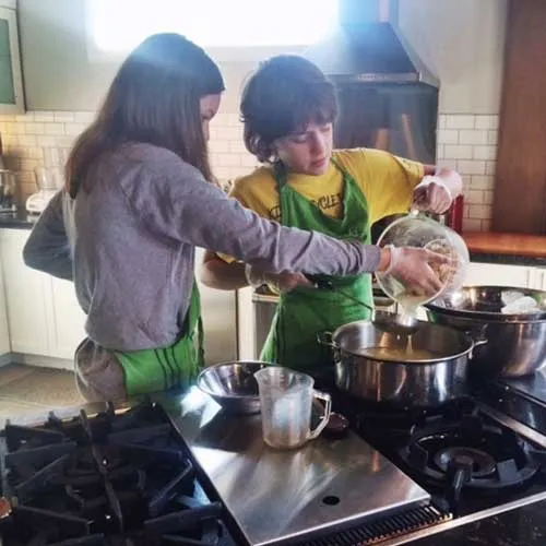
<svg viewBox="0 0 546 546"><path fill-rule="evenodd" d="M49 355L72 359L74 351L85 337L85 313L78 304L72 282L51 277L50 295Z"/></svg>

